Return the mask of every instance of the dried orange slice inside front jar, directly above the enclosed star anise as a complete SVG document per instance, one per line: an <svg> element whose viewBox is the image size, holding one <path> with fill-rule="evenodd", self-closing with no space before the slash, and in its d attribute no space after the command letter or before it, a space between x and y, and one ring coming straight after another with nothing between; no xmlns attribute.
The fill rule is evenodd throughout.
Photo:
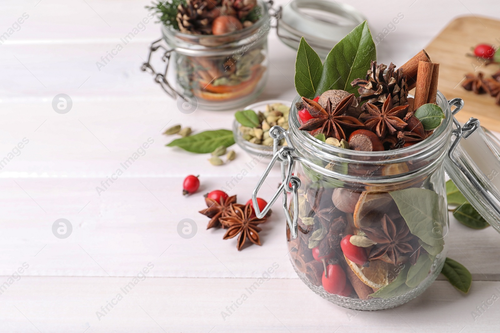
<svg viewBox="0 0 500 333"><path fill-rule="evenodd" d="M380 222L383 214L389 214L387 208L393 203L388 193L364 191L359 196L354 208L354 226L369 227L372 222Z"/></svg>

